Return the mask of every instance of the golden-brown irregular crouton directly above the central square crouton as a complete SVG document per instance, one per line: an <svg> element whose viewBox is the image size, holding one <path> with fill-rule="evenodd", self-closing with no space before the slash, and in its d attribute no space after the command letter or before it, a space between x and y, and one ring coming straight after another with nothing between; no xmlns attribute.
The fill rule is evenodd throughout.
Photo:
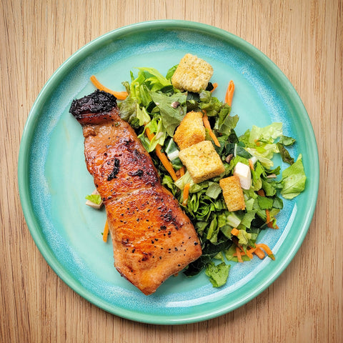
<svg viewBox="0 0 343 343"><path fill-rule="evenodd" d="M193 144L204 141L206 130L202 122L202 112L188 112L177 127L174 134L174 141L180 150L188 148Z"/></svg>

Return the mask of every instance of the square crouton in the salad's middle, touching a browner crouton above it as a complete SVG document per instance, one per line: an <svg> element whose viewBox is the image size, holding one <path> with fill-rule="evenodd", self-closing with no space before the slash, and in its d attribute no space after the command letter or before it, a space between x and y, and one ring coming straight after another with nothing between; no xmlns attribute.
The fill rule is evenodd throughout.
<svg viewBox="0 0 343 343"><path fill-rule="evenodd" d="M224 173L224 164L211 141L200 141L179 152L194 183L199 184Z"/></svg>

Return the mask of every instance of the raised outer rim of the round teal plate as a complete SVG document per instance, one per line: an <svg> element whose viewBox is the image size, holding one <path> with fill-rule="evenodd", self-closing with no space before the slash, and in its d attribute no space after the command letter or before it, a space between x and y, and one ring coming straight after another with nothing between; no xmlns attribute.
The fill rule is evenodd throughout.
<svg viewBox="0 0 343 343"><path fill-rule="evenodd" d="M231 306L229 308L222 307L219 310L212 310L207 313L201 313L199 315L189 315L184 316L184 318L175 319L175 318L169 318L164 316L159 316L158 314L137 314L137 312L132 312L131 310L122 309L121 307L117 307L114 304L108 304L103 299L95 296L91 292L89 292L88 289L83 287L77 280L74 279L74 277L71 277L69 272L66 272L64 267L61 266L61 263L58 259L54 256L54 254L51 252L48 244L46 243L44 239L44 235L40 230L37 230L36 228L39 227L37 225L37 221L35 218L34 211L31 207L31 201L30 201L30 193L29 193L29 182L25 178L25 171L26 166L29 164L29 154L26 154L27 151L29 151L29 145L28 144L32 137L33 137L33 128L34 123L36 119L39 117L39 108L42 106L42 104L45 101L45 95L48 94L52 89L54 89L54 84L61 79L63 79L64 74L67 73L67 71L78 64L80 61L82 61L83 56L89 53L89 49L93 49L94 46L97 44L103 44L103 41L106 41L106 39L114 39L116 36L121 36L122 34L131 33L132 30L137 29L143 29L146 30L149 28L149 26L154 27L154 29L193 29L194 31L202 31L206 32L207 34L216 34L219 36L224 36L225 40L233 41L235 45L237 46L244 46L244 51L248 50L251 51L254 55L255 59L262 64L268 64L269 68L272 72L272 74L277 74L277 79L285 82L287 86L289 87L289 91L292 91L292 94L295 96L292 96L292 100L296 103L297 107L299 107L304 114L302 116L302 119L304 120L304 124L307 126L308 131L311 133L311 139L314 140L315 146L313 158L315 159L314 165L317 166L314 178L312 179L312 185L314 187L313 189L313 196L314 199L312 199L312 202L310 203L309 210L307 212L307 219L304 222L304 226L302 227L302 232L297 237L296 244L292 247L293 249L290 250L289 254L287 254L287 258L282 259L282 262L278 264L278 268L275 270L274 274L270 275L267 281L264 281L262 284L262 287L259 287L258 289L254 290L251 294L249 294L249 297L244 297L244 299L241 299L239 302L234 304L234 306ZM26 119L26 124L24 126L24 130L21 136L21 142L19 146L19 157L18 157L18 184L19 184L19 196L21 201L21 208L24 212L24 217L26 219L26 224L29 228L29 232L31 233L31 237L34 239L34 242L36 244L36 247L39 249L41 254L43 255L46 262L49 264L51 269L54 270L54 272L57 274L58 277L60 277L71 289L74 290L77 294L79 294L81 297L86 299L88 302L91 302L91 304L96 305L97 307L104 309L106 312L109 312L111 314L115 314L118 317L123 317L126 319L130 319L136 322L145 322L148 324L189 324L194 322L202 322L204 320L212 319L214 317L219 317L223 314L226 314L228 312L232 312L235 309L241 307L244 304L247 304L250 300L257 297L260 293L264 291L264 289L267 289L272 282L274 282L282 272L287 268L289 263L294 258L295 254L299 250L299 248L302 245L302 242L304 241L304 238L307 234L307 231L309 229L309 226L312 222L312 217L314 215L314 209L317 204L317 196L318 196L318 189L319 189L319 158L318 158L318 149L317 149L317 142L314 135L313 127L311 124L311 121L309 119L309 116L307 114L307 111L304 107L304 104L302 103L302 100L300 99L299 94L294 89L294 86L292 83L287 79L287 76L279 69L279 67L274 64L274 62L269 59L262 51L257 49L255 46L250 44L249 42L245 41L244 39L240 38L239 36L236 36L228 31L225 31L224 29L219 29L216 26L211 26L209 24L202 24L197 21L184 21L184 20L154 20L154 21L141 21L139 23L130 24L126 26L119 27L118 29L114 29L112 31L109 31L105 34L102 34L101 36L96 37L95 39L89 41L89 43L82 46L80 49L74 52L74 54L71 54L66 61L64 61L56 71L51 75L51 77L46 81L46 84L44 84L43 88L39 92L39 95L36 97L36 100L34 101L33 106L31 107L31 110L29 112L29 116ZM116 311L114 311L116 309ZM132 316L134 314L135 317Z"/></svg>

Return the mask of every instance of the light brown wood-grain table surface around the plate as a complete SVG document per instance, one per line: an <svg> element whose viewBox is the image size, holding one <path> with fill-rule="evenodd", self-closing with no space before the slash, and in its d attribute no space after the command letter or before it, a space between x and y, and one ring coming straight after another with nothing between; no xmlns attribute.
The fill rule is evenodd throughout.
<svg viewBox="0 0 343 343"><path fill-rule="evenodd" d="M343 342L342 0L1 0L1 342ZM242 37L286 74L317 137L320 184L307 237L268 289L229 314L158 326L121 319L56 276L26 226L19 143L39 91L77 49L155 19L211 24Z"/></svg>

